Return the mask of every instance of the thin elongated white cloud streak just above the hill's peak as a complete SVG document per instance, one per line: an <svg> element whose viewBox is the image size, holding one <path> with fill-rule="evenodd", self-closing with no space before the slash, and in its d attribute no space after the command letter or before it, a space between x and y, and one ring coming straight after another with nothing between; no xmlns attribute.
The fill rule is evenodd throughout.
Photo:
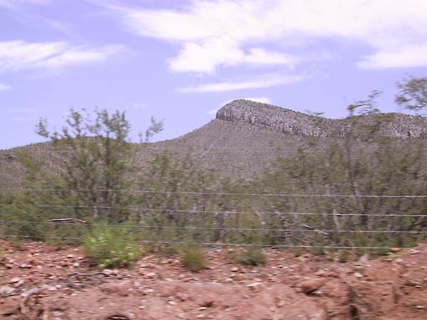
<svg viewBox="0 0 427 320"><path fill-rule="evenodd" d="M255 78L248 78L236 82L215 82L205 85L196 85L194 87L181 87L178 92L181 93L198 93L198 92L225 92L232 90L257 89L265 87L274 87L276 85L290 85L300 82L307 78L303 75L283 75L266 74L259 75Z"/></svg>

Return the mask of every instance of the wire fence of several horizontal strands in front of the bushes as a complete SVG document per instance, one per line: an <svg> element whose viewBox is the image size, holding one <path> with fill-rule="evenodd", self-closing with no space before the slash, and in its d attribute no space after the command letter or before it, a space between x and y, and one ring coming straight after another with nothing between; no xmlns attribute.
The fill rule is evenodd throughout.
<svg viewBox="0 0 427 320"><path fill-rule="evenodd" d="M72 192L72 193L83 193L83 192L108 192L108 193L137 193L137 194L159 194L159 195L183 195L183 196L227 196L227 197L274 197L274 198L344 198L344 199L356 199L356 198L368 198L368 199L426 199L427 196L423 195L342 195L342 194L288 194L288 193L215 193L215 192L196 192L196 191L150 191L150 190L107 190L107 189L73 189L73 188L4 188L1 191L6 192L34 192L34 191L43 191L49 193L55 192ZM213 216L228 216L228 217L241 217L242 215L253 215L254 218L260 216L274 216L274 217L283 217L290 216L291 218L295 217L330 217L333 219L337 218L351 218L351 217L359 217L361 213L337 213L337 212L283 212L280 210L274 211L263 211L263 210L203 210L193 208L193 209L179 209L179 208L147 208L147 207L139 207L139 206L88 206L88 205L57 205L51 203L0 203L0 213L1 216L4 216L6 213L9 215L9 219L0 218L0 228L3 227L3 230L8 230L5 228L7 225L14 225L14 230L19 230L20 226L26 225L27 228L36 226L36 225L45 225L51 226L53 229L62 228L58 230L64 230L66 228L79 228L82 230L88 230L90 228L92 221L86 221L79 218L69 218L66 216L67 213L70 213L69 210L88 210L88 212L97 213L99 210L126 210L126 211L135 211L136 213L145 213L147 214L185 214L189 215L190 225L168 225L162 223L162 219L157 221L157 223L147 224L147 221L141 218L128 218L126 223L105 223L108 227L111 228L128 228L129 230L155 230L154 233L149 233L148 237L141 239L142 243L163 243L163 244L184 244L191 243L195 245L207 245L207 246L242 246L242 247L276 247L276 248L321 248L321 249L365 249L365 250L389 250L391 246L387 245L355 245L352 243L352 238L347 237L344 240L337 240L337 235L386 235L387 238L393 236L408 236L408 237L416 237L414 240L424 240L426 239L427 229L421 228L418 230L360 230L358 228L353 229L342 229L342 228L317 228L319 226L313 227L312 225L308 225L306 223L298 223L298 228L270 228L267 226L264 227L265 222L260 220L256 221L260 227L248 227L237 223L236 226L218 226L216 220L204 219L206 215ZM41 215L41 218L34 219L23 219L23 218L13 218L10 217L22 217L26 215L27 210L54 210L56 217L49 217ZM38 212L39 213L39 212ZM199 215L202 215L199 217ZM426 220L424 225L427 225L427 213L363 213L364 217L377 217L381 219L406 219L406 218L421 218ZM197 223L194 223L194 220L198 218ZM200 220L201 219L201 220ZM134 221L134 223L130 223ZM152 222L153 220L151 220ZM154 221L156 221L154 219ZM211 224L209 224L211 223ZM333 224L333 223L332 223ZM10 229L10 228L9 228ZM0 229L1 230L1 229ZM275 236L274 243L268 242L248 242L248 237L242 236L237 242L226 241L223 242L221 240L212 241L183 241L183 240L169 240L158 238L156 233L159 233L159 230L173 230L176 231L191 231L196 232L198 234L206 234L207 232L228 232L228 233L237 233L243 235L243 233L250 235L249 238L256 238L255 233L263 233L263 234L273 234L278 233L281 236ZM81 241L83 237L82 233L78 233L78 236L51 236L51 239L56 240L75 240ZM305 239L298 238L296 235L300 234L314 234L316 235L315 239ZM327 241L321 240L322 238L330 238L331 235L334 235L332 240L338 241L338 243L330 243L333 242L331 239ZM27 238L27 239L45 239L42 235L27 235L25 233L0 233L0 238ZM233 239L233 237L224 237L225 239ZM234 237L236 238L236 237ZM286 240L287 242L278 241L277 239ZM295 240L294 242L289 242L290 239ZM204 236L199 236L199 239L205 239ZM208 237L209 239L209 237ZM348 241L347 241L348 240ZM296 243L295 243L296 242ZM350 243L349 245L342 245L342 242ZM401 246L404 247L404 246Z"/></svg>

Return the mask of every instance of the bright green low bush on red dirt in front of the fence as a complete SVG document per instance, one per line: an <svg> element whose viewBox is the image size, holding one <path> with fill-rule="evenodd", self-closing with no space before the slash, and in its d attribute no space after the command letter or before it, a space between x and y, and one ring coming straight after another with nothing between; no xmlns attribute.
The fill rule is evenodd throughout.
<svg viewBox="0 0 427 320"><path fill-rule="evenodd" d="M123 227L106 224L94 225L85 235L83 246L98 267L126 267L140 255L139 245L133 235Z"/></svg>

